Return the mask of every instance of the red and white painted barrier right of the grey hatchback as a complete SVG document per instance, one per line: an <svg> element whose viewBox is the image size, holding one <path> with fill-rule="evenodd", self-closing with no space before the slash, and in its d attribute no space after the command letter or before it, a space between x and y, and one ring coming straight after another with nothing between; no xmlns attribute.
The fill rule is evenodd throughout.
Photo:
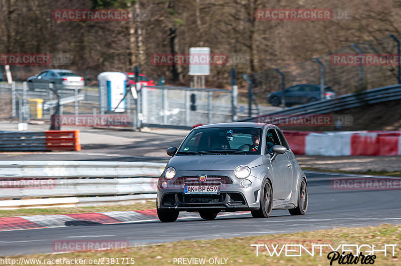
<svg viewBox="0 0 401 266"><path fill-rule="evenodd" d="M284 135L299 155L401 155L401 131L284 131Z"/></svg>

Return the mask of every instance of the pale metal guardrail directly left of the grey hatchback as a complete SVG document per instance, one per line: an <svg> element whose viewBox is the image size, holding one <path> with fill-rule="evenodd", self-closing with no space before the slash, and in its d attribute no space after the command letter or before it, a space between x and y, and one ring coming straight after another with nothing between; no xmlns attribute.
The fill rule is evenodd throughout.
<svg viewBox="0 0 401 266"><path fill-rule="evenodd" d="M164 167L145 162L0 161L0 209L154 199Z"/></svg>

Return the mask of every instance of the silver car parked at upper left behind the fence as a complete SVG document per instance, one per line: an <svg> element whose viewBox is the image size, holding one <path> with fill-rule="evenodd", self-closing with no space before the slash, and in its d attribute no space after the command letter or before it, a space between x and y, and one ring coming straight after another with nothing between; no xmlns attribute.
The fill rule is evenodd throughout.
<svg viewBox="0 0 401 266"><path fill-rule="evenodd" d="M41 74L28 78L28 87L34 89L49 89L53 86L55 90L83 89L84 78L74 74L71 70L47 69Z"/></svg>

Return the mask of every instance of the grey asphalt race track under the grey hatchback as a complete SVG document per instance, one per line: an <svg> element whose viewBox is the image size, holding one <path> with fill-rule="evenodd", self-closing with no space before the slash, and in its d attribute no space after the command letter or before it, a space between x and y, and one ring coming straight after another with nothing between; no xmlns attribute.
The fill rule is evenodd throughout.
<svg viewBox="0 0 401 266"><path fill-rule="evenodd" d="M0 255L50 253L53 241L60 240L123 240L129 241L131 246L141 246L183 239L228 238L401 223L399 190L333 190L330 186L332 178L354 175L306 174L309 207L303 216L291 216L287 210L273 210L267 219L255 219L250 214L242 214L214 221L199 217L174 223L152 221L4 231L0 232Z"/></svg>

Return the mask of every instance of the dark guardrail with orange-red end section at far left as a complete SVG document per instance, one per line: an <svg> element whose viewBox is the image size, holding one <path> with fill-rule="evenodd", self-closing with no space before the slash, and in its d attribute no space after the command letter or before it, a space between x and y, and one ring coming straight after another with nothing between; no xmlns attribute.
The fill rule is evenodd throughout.
<svg viewBox="0 0 401 266"><path fill-rule="evenodd" d="M81 150L79 130L0 133L0 151L52 150Z"/></svg>

